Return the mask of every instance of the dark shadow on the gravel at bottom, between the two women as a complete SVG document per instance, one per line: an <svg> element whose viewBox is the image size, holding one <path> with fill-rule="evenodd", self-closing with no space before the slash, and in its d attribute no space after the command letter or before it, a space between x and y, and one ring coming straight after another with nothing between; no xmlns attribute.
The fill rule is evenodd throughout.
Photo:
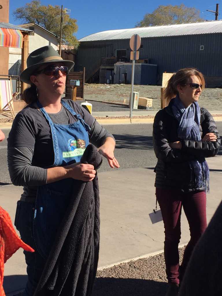
<svg viewBox="0 0 222 296"><path fill-rule="evenodd" d="M168 285L146 279L96 278L93 296L163 296Z"/></svg>

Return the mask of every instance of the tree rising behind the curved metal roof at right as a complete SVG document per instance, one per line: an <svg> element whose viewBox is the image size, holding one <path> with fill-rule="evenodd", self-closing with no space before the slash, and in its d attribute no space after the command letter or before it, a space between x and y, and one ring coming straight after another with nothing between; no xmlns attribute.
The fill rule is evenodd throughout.
<svg viewBox="0 0 222 296"><path fill-rule="evenodd" d="M201 22L200 10L195 7L180 5L159 5L152 13L144 15L143 20L137 22L136 27L182 24L187 22Z"/></svg>

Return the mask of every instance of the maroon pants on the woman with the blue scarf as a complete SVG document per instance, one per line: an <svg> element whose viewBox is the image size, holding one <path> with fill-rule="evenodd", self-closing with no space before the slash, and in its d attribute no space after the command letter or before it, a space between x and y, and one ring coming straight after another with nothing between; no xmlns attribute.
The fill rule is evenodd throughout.
<svg viewBox="0 0 222 296"><path fill-rule="evenodd" d="M198 239L207 227L206 194L204 191L183 193L177 189L156 188L165 228L164 257L169 283L179 284L179 252L181 238L181 209L189 223L190 241L187 244L181 264L184 272Z"/></svg>

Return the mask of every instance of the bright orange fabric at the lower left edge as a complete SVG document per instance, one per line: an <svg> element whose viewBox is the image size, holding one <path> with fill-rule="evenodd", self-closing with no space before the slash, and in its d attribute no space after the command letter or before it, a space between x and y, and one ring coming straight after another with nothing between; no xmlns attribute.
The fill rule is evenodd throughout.
<svg viewBox="0 0 222 296"><path fill-rule="evenodd" d="M5 296L3 289L4 263L19 249L34 252L18 237L9 214L0 207L0 296Z"/></svg>

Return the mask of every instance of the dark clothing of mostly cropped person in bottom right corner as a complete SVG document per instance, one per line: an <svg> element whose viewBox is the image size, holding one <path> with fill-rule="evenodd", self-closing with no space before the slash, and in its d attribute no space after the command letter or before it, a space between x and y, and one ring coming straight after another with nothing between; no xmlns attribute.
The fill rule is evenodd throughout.
<svg viewBox="0 0 222 296"><path fill-rule="evenodd" d="M181 284L180 296L222 295L222 202L197 243Z"/></svg>

